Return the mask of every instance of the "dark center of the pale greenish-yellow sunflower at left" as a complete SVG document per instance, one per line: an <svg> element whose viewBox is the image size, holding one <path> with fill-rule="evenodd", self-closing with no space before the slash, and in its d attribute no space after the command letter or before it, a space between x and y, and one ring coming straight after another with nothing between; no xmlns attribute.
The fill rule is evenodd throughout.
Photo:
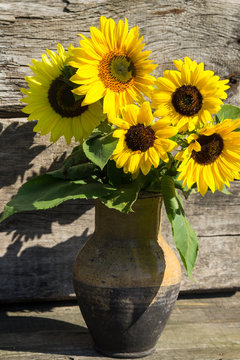
<svg viewBox="0 0 240 360"><path fill-rule="evenodd" d="M48 100L56 113L62 117L79 116L88 106L81 106L82 100L75 101L73 87L65 83L60 77L53 80L48 90Z"/></svg>

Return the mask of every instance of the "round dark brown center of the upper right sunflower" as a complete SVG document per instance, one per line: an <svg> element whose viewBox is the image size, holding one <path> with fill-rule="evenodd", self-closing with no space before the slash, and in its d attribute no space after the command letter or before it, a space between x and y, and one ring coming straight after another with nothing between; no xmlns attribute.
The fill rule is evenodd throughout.
<svg viewBox="0 0 240 360"><path fill-rule="evenodd" d="M193 116L202 108L203 97L196 86L183 85L172 95L175 110L185 116Z"/></svg>

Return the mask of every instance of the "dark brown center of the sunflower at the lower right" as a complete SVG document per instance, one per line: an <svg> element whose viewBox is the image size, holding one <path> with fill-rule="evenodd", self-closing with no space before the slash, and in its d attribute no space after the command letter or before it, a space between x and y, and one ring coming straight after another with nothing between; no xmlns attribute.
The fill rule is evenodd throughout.
<svg viewBox="0 0 240 360"><path fill-rule="evenodd" d="M210 136L200 135L197 139L201 145L201 151L192 151L192 158L201 165L213 163L223 151L223 139L219 134Z"/></svg>

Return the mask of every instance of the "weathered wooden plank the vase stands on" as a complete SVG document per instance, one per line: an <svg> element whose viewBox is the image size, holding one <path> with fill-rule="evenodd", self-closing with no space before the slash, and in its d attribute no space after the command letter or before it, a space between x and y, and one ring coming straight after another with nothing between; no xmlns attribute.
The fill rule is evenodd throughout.
<svg viewBox="0 0 240 360"><path fill-rule="evenodd" d="M239 360L239 295L178 300L148 359ZM99 357L76 305L5 306L0 320L2 360Z"/></svg>

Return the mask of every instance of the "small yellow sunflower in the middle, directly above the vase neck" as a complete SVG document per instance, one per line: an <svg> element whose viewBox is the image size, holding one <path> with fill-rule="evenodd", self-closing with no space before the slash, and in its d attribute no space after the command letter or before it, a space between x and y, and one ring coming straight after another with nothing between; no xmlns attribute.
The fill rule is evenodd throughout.
<svg viewBox="0 0 240 360"><path fill-rule="evenodd" d="M111 122L118 128L113 136L119 138L111 157L118 168L125 173L137 177L141 169L147 175L153 165L158 167L160 160L169 161L167 152L177 144L168 138L177 133L177 129L168 121L159 120L153 123L153 115L149 102L127 105L122 111L122 119L115 118Z"/></svg>

